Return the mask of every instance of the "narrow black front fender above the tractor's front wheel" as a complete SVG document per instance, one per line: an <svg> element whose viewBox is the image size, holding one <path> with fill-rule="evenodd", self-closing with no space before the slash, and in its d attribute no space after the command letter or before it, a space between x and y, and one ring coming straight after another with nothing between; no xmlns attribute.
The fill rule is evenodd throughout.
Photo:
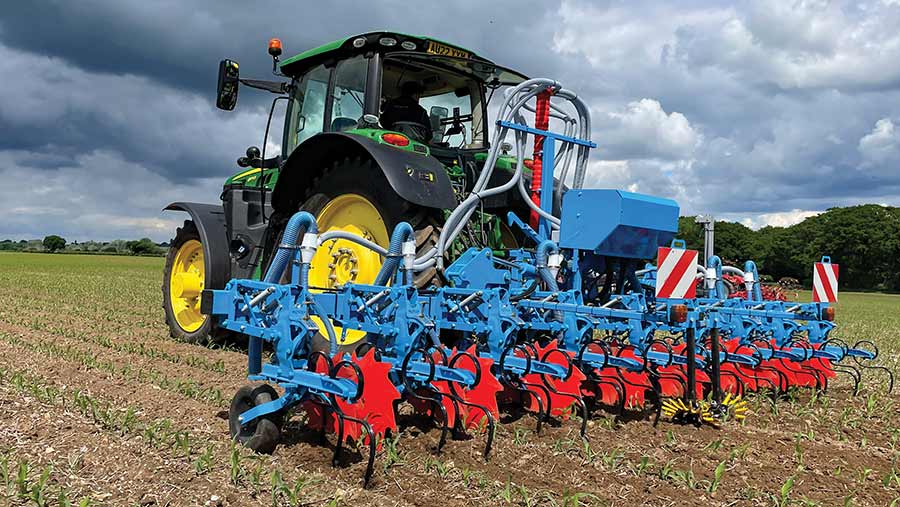
<svg viewBox="0 0 900 507"><path fill-rule="evenodd" d="M231 261L228 255L228 236L225 233L225 211L221 204L173 202L165 211L184 211L200 233L203 243L203 261L206 267L204 288L223 289L231 278Z"/></svg>

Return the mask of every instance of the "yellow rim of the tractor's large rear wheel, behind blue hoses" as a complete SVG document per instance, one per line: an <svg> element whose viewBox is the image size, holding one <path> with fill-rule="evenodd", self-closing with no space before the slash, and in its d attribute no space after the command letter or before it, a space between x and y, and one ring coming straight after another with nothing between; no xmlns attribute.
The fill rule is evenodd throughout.
<svg viewBox="0 0 900 507"><path fill-rule="evenodd" d="M365 197L358 194L340 195L325 205L316 217L319 234L328 231L346 231L362 236L387 248L390 242L387 226L381 213ZM381 264L381 255L345 239L334 239L322 244L312 259L309 284L312 287L336 288L346 283L368 284L375 281ZM322 322L313 321L326 335ZM356 329L334 327L338 343L355 343L366 335Z"/></svg>

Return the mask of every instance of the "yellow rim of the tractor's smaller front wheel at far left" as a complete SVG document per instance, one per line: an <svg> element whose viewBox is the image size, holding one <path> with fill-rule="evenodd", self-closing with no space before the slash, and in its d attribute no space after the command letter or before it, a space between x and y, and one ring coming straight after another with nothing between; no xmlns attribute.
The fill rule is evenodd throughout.
<svg viewBox="0 0 900 507"><path fill-rule="evenodd" d="M178 327L187 333L200 329L206 321L206 315L200 313L205 274L203 245L196 239L186 241L175 254L169 273L169 304Z"/></svg>

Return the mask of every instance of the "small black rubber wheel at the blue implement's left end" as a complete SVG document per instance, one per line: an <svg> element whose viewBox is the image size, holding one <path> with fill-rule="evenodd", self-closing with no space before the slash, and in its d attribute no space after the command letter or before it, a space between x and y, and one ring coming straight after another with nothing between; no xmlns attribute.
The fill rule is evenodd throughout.
<svg viewBox="0 0 900 507"><path fill-rule="evenodd" d="M238 418L247 410L277 398L278 393L268 384L246 385L238 389L228 409L231 438L258 453L272 454L281 439L281 414L268 414L245 425L241 425Z"/></svg>

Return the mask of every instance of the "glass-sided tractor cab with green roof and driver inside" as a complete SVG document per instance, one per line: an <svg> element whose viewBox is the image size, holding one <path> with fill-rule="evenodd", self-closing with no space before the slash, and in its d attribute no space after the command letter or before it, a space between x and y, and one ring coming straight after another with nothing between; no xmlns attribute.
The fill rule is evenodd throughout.
<svg viewBox="0 0 900 507"><path fill-rule="evenodd" d="M468 50L383 32L326 44L280 69L292 78L285 158L322 132L371 135L373 129L399 133L413 149L426 146L435 155L483 151L491 90L526 79Z"/></svg>

